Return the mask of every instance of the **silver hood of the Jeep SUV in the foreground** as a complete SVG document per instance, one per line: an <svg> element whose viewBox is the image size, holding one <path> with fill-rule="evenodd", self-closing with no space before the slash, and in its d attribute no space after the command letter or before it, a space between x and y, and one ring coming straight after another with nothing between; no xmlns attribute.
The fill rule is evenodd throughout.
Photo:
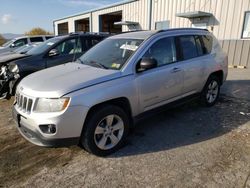
<svg viewBox="0 0 250 188"><path fill-rule="evenodd" d="M121 76L117 70L67 63L25 77L17 90L32 97L59 98L72 91Z"/></svg>

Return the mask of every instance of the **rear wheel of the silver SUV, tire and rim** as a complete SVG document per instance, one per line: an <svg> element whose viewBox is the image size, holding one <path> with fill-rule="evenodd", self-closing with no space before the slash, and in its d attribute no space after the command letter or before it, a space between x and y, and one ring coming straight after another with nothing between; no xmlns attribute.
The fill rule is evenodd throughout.
<svg viewBox="0 0 250 188"><path fill-rule="evenodd" d="M201 102L205 106L213 106L220 95L220 80L217 76L209 76L201 93Z"/></svg>

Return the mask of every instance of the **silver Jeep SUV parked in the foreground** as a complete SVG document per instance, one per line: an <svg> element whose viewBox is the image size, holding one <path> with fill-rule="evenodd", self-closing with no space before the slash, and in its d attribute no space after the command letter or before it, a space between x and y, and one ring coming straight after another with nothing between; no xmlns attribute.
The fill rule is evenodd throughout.
<svg viewBox="0 0 250 188"><path fill-rule="evenodd" d="M144 112L190 97L214 105L227 67L227 56L207 30L124 33L76 62L24 78L13 116L36 145L79 143L104 156L122 146Z"/></svg>

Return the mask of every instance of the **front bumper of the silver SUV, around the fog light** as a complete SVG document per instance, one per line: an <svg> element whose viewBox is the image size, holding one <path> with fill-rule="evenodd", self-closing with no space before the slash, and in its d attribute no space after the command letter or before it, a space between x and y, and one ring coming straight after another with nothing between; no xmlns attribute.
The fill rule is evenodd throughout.
<svg viewBox="0 0 250 188"><path fill-rule="evenodd" d="M82 106L68 107L63 113L25 114L14 105L12 115L20 134L29 142L46 147L76 145L79 143L87 109ZM39 125L53 124L56 132L42 132Z"/></svg>

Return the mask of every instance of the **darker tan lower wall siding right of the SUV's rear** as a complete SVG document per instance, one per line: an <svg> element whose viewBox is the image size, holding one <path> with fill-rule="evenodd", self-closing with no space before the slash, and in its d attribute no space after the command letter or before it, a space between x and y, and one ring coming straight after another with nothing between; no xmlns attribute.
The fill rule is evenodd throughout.
<svg viewBox="0 0 250 188"><path fill-rule="evenodd" d="M250 68L250 40L223 40L220 43L228 54L229 66Z"/></svg>

